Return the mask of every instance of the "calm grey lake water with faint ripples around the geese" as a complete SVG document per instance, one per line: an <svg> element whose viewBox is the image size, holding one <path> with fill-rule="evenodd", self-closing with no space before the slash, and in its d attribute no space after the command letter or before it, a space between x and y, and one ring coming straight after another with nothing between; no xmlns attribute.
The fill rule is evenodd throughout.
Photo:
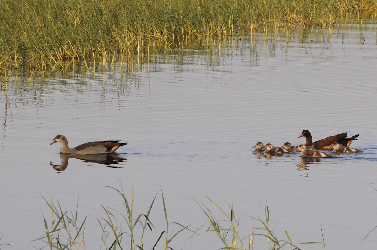
<svg viewBox="0 0 377 250"><path fill-rule="evenodd" d="M375 25L365 24L362 31L320 30L306 39L254 36L222 43L220 50L166 50L135 58L123 70L106 64L98 71L33 72L31 80L31 72L20 72L1 83L0 244L12 245L1 248L43 247L31 241L46 232L43 216L51 224L43 197L52 197L74 213L78 202L79 221L89 215L86 249L100 249L101 204L127 215L118 206L122 197L106 186L122 186L129 200L133 187L134 218L157 195L150 215L156 229L144 235L144 249L166 230L162 192L169 222L197 233L190 238L192 232L182 231L169 244L173 249L224 247L206 232L199 204L224 219L207 197L228 214L228 204L233 207L243 237L262 227L253 218L265 220L267 205L279 239L287 240L287 230L296 244L324 240L326 249L373 249L377 230L363 239L377 226L376 67ZM259 141L304 143L297 138L304 129L313 140L360 134L352 147L365 152L305 161L298 152L270 157L251 149ZM67 161L59 143L49 145L57 134L70 147L128 144L115 162ZM124 235L122 247L128 246ZM256 235L254 249L268 249L267 238Z"/></svg>

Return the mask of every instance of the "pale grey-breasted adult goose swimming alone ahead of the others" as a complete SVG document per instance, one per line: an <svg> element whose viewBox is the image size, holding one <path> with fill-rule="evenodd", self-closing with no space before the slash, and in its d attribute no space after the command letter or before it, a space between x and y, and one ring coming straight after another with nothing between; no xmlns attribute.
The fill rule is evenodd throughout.
<svg viewBox="0 0 377 250"><path fill-rule="evenodd" d="M121 140L107 140L103 142L87 142L76 148L69 148L67 138L62 134L55 136L50 145L56 142L61 143L60 152L63 154L107 154L113 153L116 149L127 144L127 142L121 143L123 142Z"/></svg>

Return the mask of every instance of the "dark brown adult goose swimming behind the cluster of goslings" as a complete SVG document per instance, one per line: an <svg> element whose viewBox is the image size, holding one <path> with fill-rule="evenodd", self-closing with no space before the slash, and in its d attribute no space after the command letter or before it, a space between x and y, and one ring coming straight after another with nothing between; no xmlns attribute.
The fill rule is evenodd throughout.
<svg viewBox="0 0 377 250"><path fill-rule="evenodd" d="M329 137L326 137L325 139L317 140L314 143L311 137L311 133L308 130L303 130L299 138L303 136L306 138L305 145L307 146L308 149L312 149L312 148L328 149L328 147L334 142L339 142L343 145L349 146L351 145L352 140L357 140L356 137L358 137L359 135L356 134L352 136L351 138L346 138L347 133L336 134L335 136L329 136Z"/></svg>

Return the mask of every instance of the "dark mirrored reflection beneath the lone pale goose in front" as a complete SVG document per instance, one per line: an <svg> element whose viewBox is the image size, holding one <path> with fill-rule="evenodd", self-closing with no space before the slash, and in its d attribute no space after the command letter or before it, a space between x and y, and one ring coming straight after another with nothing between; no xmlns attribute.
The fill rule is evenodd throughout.
<svg viewBox="0 0 377 250"><path fill-rule="evenodd" d="M69 158L80 159L88 163L103 164L107 165L109 168L120 168L120 166L112 166L112 164L119 165L120 162L127 160L120 157L119 154L60 154L60 165L50 162L50 166L52 166L56 171L64 171L68 166Z"/></svg>

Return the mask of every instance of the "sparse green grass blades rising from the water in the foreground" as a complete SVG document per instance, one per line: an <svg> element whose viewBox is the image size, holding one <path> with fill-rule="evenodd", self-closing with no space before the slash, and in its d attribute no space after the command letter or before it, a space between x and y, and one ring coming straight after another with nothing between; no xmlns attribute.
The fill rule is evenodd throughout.
<svg viewBox="0 0 377 250"><path fill-rule="evenodd" d="M110 187L110 186L107 186ZM227 204L224 209L220 207L215 201L207 197L209 204L196 201L196 203L201 208L204 213L203 220L205 218L207 221L199 226L197 229L192 229L192 225L183 225L177 222L169 221L168 207L164 199L164 194L161 190L162 207L163 207L163 218L164 223L166 223L161 229L160 226L154 225L154 216L152 210L155 210L155 206L159 206L159 201L156 200L158 193L153 198L149 207L145 213L136 213L133 204L133 187L130 198L127 198L124 194L123 187L121 189L116 189L110 187L121 196L122 204L120 210L115 210L110 207L105 207L101 204L105 216L97 218L98 224L101 227L102 235L98 234L101 238L100 249L120 249L127 248L127 244L130 244L130 249L181 249L181 244L175 239L177 235L182 235L187 241L194 241L197 236L202 233L209 233L218 236L219 242L211 242L213 247L222 245L220 249L228 250L251 250L254 249L254 242L256 241L256 236L258 241L260 239L266 240L266 249L284 249L283 247L288 247L288 249L300 250L301 248L294 244L288 234L287 230L284 230L284 238L279 239L277 235L271 229L270 213L268 206L265 206L264 218L253 218L246 216L254 221L254 223L245 222L245 220L240 220L241 216L236 218L234 215L233 207ZM50 248L50 249L86 249L86 237L84 236L84 231L86 227L86 220L88 215L84 218L79 218L78 216L78 203L76 210L66 211L61 208L60 203L54 202L51 197L51 201L43 198L48 204L51 217L45 217L44 226L45 234L41 238L35 239L38 242L44 242L45 246L40 248ZM157 208L158 209L158 208ZM164 224L162 223L162 224ZM256 227L256 223L261 224L260 227ZM244 227L251 232L242 232ZM156 228L156 227L158 228ZM273 225L275 227L276 225ZM241 229L242 228L242 229ZM321 228L322 230L322 228ZM323 235L322 235L323 239ZM182 238L181 238L182 240ZM98 241L99 242L99 241ZM150 244L150 245L149 245ZM302 244L323 244L324 242L305 242ZM152 246L153 245L153 246ZM36 247L37 248L37 247ZM215 247L216 248L216 247Z"/></svg>

